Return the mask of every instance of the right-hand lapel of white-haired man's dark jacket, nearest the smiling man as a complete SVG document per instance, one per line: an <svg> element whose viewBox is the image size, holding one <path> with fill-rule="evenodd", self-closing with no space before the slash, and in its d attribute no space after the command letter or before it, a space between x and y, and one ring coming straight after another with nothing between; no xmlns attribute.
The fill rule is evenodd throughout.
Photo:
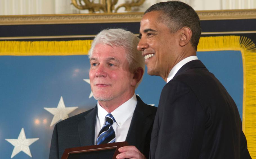
<svg viewBox="0 0 256 159"><path fill-rule="evenodd" d="M152 112L145 108L147 105L140 99L140 97L136 97L138 102L125 141L127 141L129 145L134 145L140 149L142 142L145 142L142 140L144 140L148 130L151 128L154 119L148 117Z"/></svg>

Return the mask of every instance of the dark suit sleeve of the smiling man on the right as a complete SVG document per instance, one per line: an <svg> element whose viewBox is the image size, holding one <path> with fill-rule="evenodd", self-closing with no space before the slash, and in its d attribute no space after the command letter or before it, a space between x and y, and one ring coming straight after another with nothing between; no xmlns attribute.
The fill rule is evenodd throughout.
<svg viewBox="0 0 256 159"><path fill-rule="evenodd" d="M198 158L206 117L195 93L181 82L167 84L157 115L155 158Z"/></svg>

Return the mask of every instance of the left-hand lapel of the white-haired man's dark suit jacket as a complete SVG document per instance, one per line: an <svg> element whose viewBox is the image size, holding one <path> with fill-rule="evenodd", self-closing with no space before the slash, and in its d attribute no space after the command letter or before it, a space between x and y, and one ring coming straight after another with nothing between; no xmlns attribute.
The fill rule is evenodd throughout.
<svg viewBox="0 0 256 159"><path fill-rule="evenodd" d="M81 146L94 145L97 105L78 124Z"/></svg>

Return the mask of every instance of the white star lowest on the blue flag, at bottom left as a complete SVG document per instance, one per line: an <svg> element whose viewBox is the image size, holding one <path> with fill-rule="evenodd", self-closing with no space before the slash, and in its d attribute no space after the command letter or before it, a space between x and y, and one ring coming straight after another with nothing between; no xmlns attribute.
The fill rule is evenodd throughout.
<svg viewBox="0 0 256 159"><path fill-rule="evenodd" d="M15 155L17 155L21 151L26 153L28 156L32 157L29 146L33 142L37 141L38 139L39 138L26 139L24 128L21 128L21 132L19 134L18 139L5 139L5 140L10 142L14 146L14 149L12 151L12 156L11 156L11 158L13 158Z"/></svg>

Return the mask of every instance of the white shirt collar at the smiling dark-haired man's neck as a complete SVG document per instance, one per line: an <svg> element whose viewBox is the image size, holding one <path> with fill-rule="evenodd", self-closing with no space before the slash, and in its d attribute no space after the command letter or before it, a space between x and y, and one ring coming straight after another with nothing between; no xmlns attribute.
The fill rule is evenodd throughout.
<svg viewBox="0 0 256 159"><path fill-rule="evenodd" d="M170 80L172 80L172 78L175 76L175 74L179 71L179 69L184 66L185 64L187 64L188 62L192 61L192 60L198 60L197 56L189 56L183 60L181 60L180 62L178 62L178 64L176 64L170 71L168 77L167 77L167 82L168 83Z"/></svg>

